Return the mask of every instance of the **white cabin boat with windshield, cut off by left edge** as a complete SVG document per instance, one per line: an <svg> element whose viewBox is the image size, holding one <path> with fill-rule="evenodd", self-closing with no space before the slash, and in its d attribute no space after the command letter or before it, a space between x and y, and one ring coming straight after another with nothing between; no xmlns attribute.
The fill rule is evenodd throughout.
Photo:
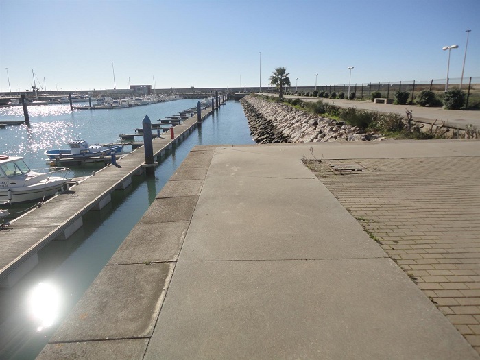
<svg viewBox="0 0 480 360"><path fill-rule="evenodd" d="M0 155L0 204L51 197L66 186L68 171L66 167L30 170L21 156Z"/></svg>

